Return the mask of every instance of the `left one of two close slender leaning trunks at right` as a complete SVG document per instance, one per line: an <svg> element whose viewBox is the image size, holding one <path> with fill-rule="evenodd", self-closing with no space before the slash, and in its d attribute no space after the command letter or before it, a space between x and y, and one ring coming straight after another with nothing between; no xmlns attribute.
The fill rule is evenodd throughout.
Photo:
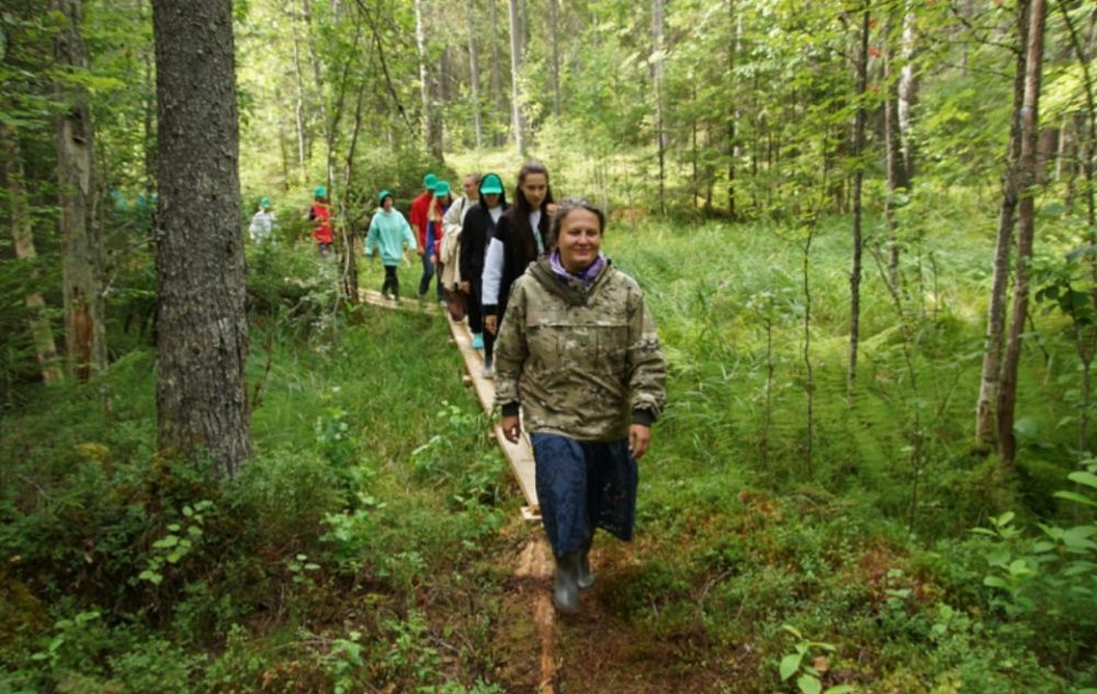
<svg viewBox="0 0 1097 694"><path fill-rule="evenodd" d="M1017 211L1017 167L1021 153L1021 107L1025 104L1025 75L1031 0L1019 0L1017 36L1020 48L1014 73L1014 117L1010 128L1006 170L1002 175L1002 205L998 208L998 232L994 244L994 270L991 297L986 310L986 338L983 341L983 373L975 403L975 445L983 446L994 439L994 408L1002 379L1002 334L1006 326L1006 286L1009 282L1009 254L1014 237L1014 215Z"/></svg>

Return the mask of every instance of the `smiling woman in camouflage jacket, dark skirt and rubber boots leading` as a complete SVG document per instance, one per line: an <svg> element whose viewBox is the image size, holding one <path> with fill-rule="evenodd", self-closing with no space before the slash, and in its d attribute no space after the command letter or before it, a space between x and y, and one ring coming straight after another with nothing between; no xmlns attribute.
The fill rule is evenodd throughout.
<svg viewBox="0 0 1097 694"><path fill-rule="evenodd" d="M556 558L553 599L578 608L593 583L596 527L632 538L636 459L666 400L666 363L636 282L601 253L606 217L564 201L550 257L513 286L496 345L496 405L517 442L523 413L538 500Z"/></svg>

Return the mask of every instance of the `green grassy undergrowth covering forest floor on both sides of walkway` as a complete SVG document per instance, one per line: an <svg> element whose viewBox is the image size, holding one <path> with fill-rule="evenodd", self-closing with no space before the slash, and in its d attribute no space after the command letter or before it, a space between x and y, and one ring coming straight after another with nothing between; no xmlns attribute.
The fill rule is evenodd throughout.
<svg viewBox="0 0 1097 694"><path fill-rule="evenodd" d="M953 202L915 201L897 304L867 259L852 400L845 221L814 230L811 383L805 229L611 224L606 250L659 327L668 407L636 541L599 535L597 618L558 626L562 690L1094 686L1077 360L1038 312L1002 478L970 445L989 236L963 220L985 211ZM249 252L255 457L237 478L156 455L136 328L93 383L24 388L3 420L0 691L528 691L533 608L512 565L539 528L517 522L444 322L339 306L306 244ZM418 275L400 269L406 297ZM609 670L584 672L587 644Z"/></svg>

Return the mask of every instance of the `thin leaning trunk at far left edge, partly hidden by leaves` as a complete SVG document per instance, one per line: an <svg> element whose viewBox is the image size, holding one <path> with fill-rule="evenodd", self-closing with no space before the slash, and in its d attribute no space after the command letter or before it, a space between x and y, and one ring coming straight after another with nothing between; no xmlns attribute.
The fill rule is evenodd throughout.
<svg viewBox="0 0 1097 694"><path fill-rule="evenodd" d="M23 185L23 158L20 153L19 137L2 122L0 122L0 155L3 159L4 181L8 187L8 220L15 243L15 258L33 263L37 252L34 248L31 211L27 208L26 190ZM38 292L29 292L24 302L30 314L31 339L38 357L38 367L42 369L42 380L47 385L60 383L65 373L58 360L46 303Z"/></svg>

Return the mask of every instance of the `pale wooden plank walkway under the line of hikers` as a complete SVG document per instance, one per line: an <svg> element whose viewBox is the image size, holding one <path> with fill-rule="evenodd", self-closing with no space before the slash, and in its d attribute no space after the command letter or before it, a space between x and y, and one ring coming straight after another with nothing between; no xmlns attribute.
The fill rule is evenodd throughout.
<svg viewBox="0 0 1097 694"><path fill-rule="evenodd" d="M442 309L436 302L420 303L416 299L403 299L399 304L396 304L392 299L382 296L380 292L370 289L361 289L360 295L366 304L373 306L391 309L420 310L431 315L443 314L445 320L450 323L450 334L453 337L453 341L456 343L457 349L461 351L461 356L465 362L465 371L467 372L465 383L476 392L476 397L479 399L484 411L491 411L491 406L495 402L495 383L490 378L484 378L480 375L484 357L478 350L473 349L472 333L468 332L468 326L465 321L457 322L453 320L450 318L449 311ZM507 437L502 435L502 425L498 422L493 424L491 431L495 433L495 439L499 443L499 447L502 448L504 455L507 456L507 460L510 463L510 469L518 480L522 496L525 497L527 505L522 508L522 517L527 521L540 521L541 507L538 504L538 488L533 477L533 448L530 445L529 435L523 428L521 439L514 444L507 441Z"/></svg>

